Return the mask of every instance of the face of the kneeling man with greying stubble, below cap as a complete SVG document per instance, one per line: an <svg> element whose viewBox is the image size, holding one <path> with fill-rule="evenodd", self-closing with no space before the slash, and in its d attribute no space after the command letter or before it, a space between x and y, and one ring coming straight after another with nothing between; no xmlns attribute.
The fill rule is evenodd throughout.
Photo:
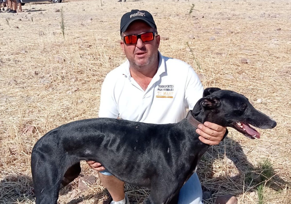
<svg viewBox="0 0 291 204"><path fill-rule="evenodd" d="M126 35L139 35L145 32L155 31L148 24L143 21L136 20L132 22L127 30L123 33ZM125 56L129 60L131 66L144 67L156 63L158 60L158 48L160 43L160 36L156 36L154 40L143 42L140 38L135 44L125 44L120 42L121 48Z"/></svg>

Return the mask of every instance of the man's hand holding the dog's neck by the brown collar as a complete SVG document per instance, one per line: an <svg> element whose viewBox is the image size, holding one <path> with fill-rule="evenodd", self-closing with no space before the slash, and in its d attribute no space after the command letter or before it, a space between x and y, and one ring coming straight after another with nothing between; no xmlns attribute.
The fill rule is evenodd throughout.
<svg viewBox="0 0 291 204"><path fill-rule="evenodd" d="M226 132L226 127L212 122L205 122L204 125L200 124L198 128L196 133L200 135L199 140L208 145L218 145Z"/></svg>

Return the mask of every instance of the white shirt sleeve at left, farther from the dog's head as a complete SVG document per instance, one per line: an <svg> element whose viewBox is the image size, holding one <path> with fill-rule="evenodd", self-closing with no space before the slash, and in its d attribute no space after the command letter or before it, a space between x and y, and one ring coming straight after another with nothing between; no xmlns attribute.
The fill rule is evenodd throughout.
<svg viewBox="0 0 291 204"><path fill-rule="evenodd" d="M99 117L117 118L119 115L114 98L114 80L107 75L101 87Z"/></svg>

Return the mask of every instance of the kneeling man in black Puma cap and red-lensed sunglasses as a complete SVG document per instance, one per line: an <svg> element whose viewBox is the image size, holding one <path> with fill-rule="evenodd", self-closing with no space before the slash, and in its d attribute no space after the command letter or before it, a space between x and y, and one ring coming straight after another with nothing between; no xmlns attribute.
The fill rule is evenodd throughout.
<svg viewBox="0 0 291 204"><path fill-rule="evenodd" d="M120 22L120 34L120 45L128 60L107 74L101 89L99 117L155 124L182 120L186 109L192 109L203 94L193 68L178 59L162 56L158 51L160 36L147 11L125 13ZM205 122L196 131L202 142L216 145L226 128ZM102 184L113 198L111 204L129 204L122 181L106 171L102 164L87 163L99 171ZM179 194L179 204L189 203L202 203L202 189L196 173Z"/></svg>

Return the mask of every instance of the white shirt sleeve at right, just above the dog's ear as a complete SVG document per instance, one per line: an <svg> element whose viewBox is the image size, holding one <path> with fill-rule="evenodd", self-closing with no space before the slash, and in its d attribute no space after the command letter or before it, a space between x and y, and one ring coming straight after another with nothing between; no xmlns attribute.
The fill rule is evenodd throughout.
<svg viewBox="0 0 291 204"><path fill-rule="evenodd" d="M193 110L194 105L203 96L203 86L196 72L191 66L189 66L189 71L186 80L185 87L185 106L189 110Z"/></svg>

